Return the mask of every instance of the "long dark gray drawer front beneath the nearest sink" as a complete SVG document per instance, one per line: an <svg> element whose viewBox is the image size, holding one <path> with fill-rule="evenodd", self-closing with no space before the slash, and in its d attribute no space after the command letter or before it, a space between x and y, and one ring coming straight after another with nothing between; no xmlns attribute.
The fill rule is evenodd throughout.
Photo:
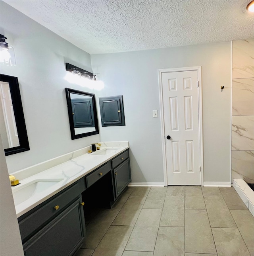
<svg viewBox="0 0 254 256"><path fill-rule="evenodd" d="M37 211L21 220L19 222L19 229L22 241L24 242L29 235L40 228L46 221L58 215L78 196L80 196L79 185L75 184L64 192L60 192L60 195L49 200L48 203L40 207ZM57 205L59 208L56 210L54 207Z"/></svg>

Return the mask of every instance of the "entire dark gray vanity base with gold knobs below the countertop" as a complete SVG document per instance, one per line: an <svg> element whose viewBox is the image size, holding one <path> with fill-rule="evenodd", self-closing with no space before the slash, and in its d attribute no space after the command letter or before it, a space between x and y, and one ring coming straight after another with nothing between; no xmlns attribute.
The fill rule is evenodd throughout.
<svg viewBox="0 0 254 256"><path fill-rule="evenodd" d="M25 256L75 254L85 238L82 196L87 200L85 207L92 198L97 205L110 208L130 181L127 149L19 217Z"/></svg>

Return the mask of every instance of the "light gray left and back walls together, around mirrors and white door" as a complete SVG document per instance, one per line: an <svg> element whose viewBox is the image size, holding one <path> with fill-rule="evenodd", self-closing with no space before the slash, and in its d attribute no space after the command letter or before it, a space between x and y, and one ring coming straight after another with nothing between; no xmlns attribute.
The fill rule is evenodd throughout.
<svg viewBox="0 0 254 256"><path fill-rule="evenodd" d="M133 182L163 182L158 69L202 66L204 181L230 181L231 43L90 55L1 2L1 34L15 47L15 67L30 151L7 157L9 172L76 150L94 141L130 142ZM72 141L64 88L65 62L104 81L98 96L123 95L126 126L100 127L100 135ZM220 86L224 85L223 92ZM158 109L159 118L152 117Z"/></svg>

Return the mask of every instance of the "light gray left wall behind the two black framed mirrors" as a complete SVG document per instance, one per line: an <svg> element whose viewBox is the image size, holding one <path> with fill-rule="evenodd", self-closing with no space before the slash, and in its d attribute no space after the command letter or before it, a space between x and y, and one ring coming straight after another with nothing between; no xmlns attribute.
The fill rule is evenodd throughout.
<svg viewBox="0 0 254 256"><path fill-rule="evenodd" d="M9 172L100 141L100 135L71 140L64 90L94 93L64 80L65 62L92 71L90 55L5 2L0 4L0 31L14 46L17 63L1 65L1 73L18 77L30 145L29 151L6 157Z"/></svg>

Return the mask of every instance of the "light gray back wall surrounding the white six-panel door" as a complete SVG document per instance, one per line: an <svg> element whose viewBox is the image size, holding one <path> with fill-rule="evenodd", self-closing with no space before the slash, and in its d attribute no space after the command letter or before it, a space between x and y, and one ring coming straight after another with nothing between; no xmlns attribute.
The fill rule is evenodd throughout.
<svg viewBox="0 0 254 256"><path fill-rule="evenodd" d="M230 42L91 55L91 61L105 84L96 95L123 95L126 126L100 133L102 141L129 141L133 182L164 182L158 69L202 66L204 181L230 182Z"/></svg>

